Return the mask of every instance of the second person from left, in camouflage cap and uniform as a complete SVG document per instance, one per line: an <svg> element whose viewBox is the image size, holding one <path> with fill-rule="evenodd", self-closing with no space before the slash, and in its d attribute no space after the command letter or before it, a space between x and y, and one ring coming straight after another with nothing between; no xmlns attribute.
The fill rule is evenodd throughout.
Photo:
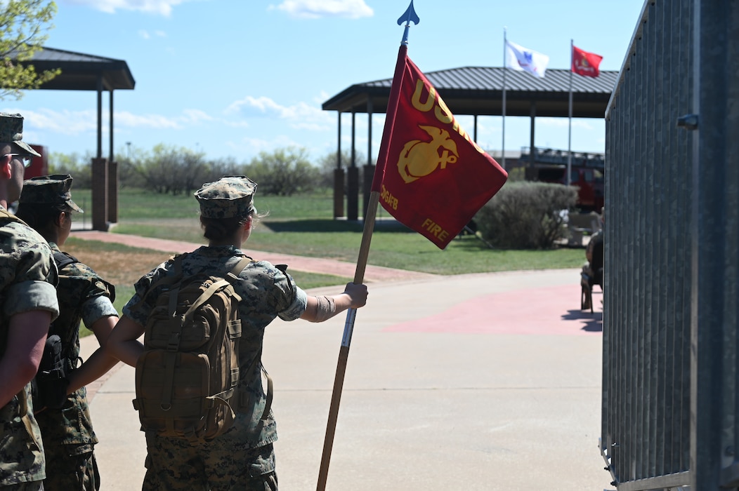
<svg viewBox="0 0 739 491"><path fill-rule="evenodd" d="M82 213L80 207L72 201L69 188L72 177L64 174L41 176L25 182L18 206L18 216L33 210L44 210L52 215L54 206L64 208L67 213L72 210ZM36 224L36 217L30 221ZM41 227L47 234L46 227ZM58 245L51 241L49 245L55 256L69 258L59 269L57 298L59 317L52 323L49 334L57 334L62 340L62 354L66 365L65 373L69 374L78 368L80 356L80 323L92 329L103 317L118 317L113 307L115 287L104 281L92 268L78 262L72 256L62 253ZM66 237L63 238L66 240ZM61 256L60 256L61 254ZM93 448L98 443L92 429L86 388L81 387L67 396L67 401L60 409L38 408L36 413L41 436L44 439L46 454L45 491L93 491L100 489L100 475L95 461Z"/></svg>

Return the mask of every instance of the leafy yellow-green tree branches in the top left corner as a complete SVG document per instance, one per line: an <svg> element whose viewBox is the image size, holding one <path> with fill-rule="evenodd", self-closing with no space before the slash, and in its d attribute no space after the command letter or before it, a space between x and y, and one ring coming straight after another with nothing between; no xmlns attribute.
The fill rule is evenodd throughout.
<svg viewBox="0 0 739 491"><path fill-rule="evenodd" d="M46 42L56 4L47 0L0 2L0 99L23 97L22 89L38 89L60 70L36 72L28 62Z"/></svg>

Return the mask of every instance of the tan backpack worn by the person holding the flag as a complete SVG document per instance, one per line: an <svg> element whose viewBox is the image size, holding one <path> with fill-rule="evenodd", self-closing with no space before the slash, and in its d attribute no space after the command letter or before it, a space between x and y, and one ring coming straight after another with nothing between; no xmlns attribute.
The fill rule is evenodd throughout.
<svg viewBox="0 0 739 491"><path fill-rule="evenodd" d="M175 257L171 274L149 288L164 285L146 321L133 402L143 431L209 441L234 422L242 327L233 284L251 258L225 278L183 278L184 257Z"/></svg>

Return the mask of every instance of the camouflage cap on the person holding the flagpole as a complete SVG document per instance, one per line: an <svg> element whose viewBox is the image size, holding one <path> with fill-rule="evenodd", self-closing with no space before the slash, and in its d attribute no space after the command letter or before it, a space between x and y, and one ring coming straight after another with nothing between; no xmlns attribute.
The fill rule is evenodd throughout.
<svg viewBox="0 0 739 491"><path fill-rule="evenodd" d="M253 205L256 182L247 176L225 176L206 182L195 192L200 216L206 219L242 218L256 211Z"/></svg>

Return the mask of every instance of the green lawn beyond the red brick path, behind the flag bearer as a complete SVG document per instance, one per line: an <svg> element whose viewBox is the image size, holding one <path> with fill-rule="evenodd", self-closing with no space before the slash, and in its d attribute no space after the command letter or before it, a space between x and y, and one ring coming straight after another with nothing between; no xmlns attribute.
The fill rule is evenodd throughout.
<svg viewBox="0 0 739 491"><path fill-rule="evenodd" d="M79 199L76 191L74 197ZM363 224L333 219L333 198L327 191L307 196L257 194L255 205L268 216L253 229L245 249L357 261ZM171 196L123 189L119 193L119 210L115 233L204 243L192 193ZM391 218L385 210L378 210L369 264L456 275L575 268L585 261L582 249L491 250L475 236L456 238L446 250L439 250Z"/></svg>

